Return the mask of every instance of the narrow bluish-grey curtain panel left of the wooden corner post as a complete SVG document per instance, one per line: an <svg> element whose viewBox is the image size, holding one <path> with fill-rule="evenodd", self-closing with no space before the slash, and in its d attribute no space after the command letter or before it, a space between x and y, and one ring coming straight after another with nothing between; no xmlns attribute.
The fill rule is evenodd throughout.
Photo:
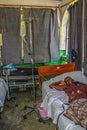
<svg viewBox="0 0 87 130"><path fill-rule="evenodd" d="M57 9L51 11L50 20L50 56L51 61L59 60L58 52L58 21L57 21Z"/></svg>

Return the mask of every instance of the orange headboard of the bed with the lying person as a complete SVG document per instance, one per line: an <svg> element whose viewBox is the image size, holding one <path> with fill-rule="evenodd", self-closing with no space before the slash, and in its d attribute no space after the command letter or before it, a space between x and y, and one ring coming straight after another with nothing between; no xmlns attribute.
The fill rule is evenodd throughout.
<svg viewBox="0 0 87 130"><path fill-rule="evenodd" d="M38 83L39 88L42 87L40 78L43 76L59 75L75 70L75 63L67 63L60 65L40 66L38 67Z"/></svg>

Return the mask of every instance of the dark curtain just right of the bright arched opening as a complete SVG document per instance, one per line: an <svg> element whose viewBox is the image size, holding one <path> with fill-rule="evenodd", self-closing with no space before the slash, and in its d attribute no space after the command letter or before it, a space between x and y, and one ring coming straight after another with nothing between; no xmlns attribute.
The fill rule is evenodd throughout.
<svg viewBox="0 0 87 130"><path fill-rule="evenodd" d="M70 6L69 9L70 16L70 26L69 26L69 43L68 51L72 49L77 50L77 12L78 12L78 3L73 6Z"/></svg>

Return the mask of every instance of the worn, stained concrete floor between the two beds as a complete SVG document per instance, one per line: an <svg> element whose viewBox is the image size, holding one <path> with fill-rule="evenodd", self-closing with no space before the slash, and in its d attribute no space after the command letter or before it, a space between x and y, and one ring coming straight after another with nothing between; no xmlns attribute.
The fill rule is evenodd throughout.
<svg viewBox="0 0 87 130"><path fill-rule="evenodd" d="M12 101L6 101L4 111L0 119L0 130L55 130L55 125L52 120L39 121L36 112L29 114L26 119L23 115L29 111L24 109L26 105L32 106L35 104L33 91L15 92L11 96L16 97L18 106ZM36 103L42 102L41 91L37 91Z"/></svg>

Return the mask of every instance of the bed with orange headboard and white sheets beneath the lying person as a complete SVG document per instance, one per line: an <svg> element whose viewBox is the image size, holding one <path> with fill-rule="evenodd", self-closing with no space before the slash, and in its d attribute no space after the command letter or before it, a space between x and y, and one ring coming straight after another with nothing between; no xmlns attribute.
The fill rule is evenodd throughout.
<svg viewBox="0 0 87 130"><path fill-rule="evenodd" d="M66 76L87 84L87 77L81 71L75 71L75 64L61 64L55 66L41 66L38 68L39 88L42 90L42 107L47 116L52 118L53 123L59 130L85 130L81 125L75 124L64 113L69 106L69 97L64 91L51 89L53 82L64 80ZM56 128L57 129L57 128Z"/></svg>

